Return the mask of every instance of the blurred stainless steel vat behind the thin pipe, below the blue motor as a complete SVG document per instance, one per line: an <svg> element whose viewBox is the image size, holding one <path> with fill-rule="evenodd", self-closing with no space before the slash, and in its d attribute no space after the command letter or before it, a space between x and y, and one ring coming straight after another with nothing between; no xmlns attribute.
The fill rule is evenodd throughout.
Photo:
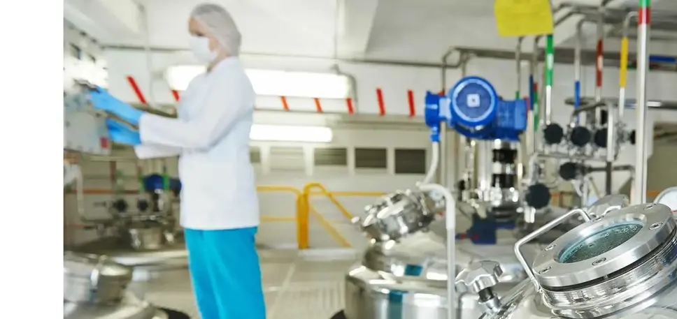
<svg viewBox="0 0 677 319"><path fill-rule="evenodd" d="M345 278L345 318L446 318L446 239L439 223L444 221L435 221L429 230L409 234L398 242L375 242L366 249L362 261L351 267ZM505 270L499 292L508 292L526 278L511 252L514 242L458 242L457 272L473 261L497 258ZM540 250L539 244L524 248L527 255ZM477 300L475 295L459 295L455 301L458 318L477 318L481 314Z"/></svg>

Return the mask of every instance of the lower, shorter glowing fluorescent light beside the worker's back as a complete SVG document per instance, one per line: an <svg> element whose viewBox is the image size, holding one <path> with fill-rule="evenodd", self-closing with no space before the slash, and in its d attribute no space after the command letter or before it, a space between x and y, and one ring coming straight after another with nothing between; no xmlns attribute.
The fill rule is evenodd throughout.
<svg viewBox="0 0 677 319"><path fill-rule="evenodd" d="M254 124L249 138L255 141L276 142L332 142L331 128L324 126L285 126Z"/></svg>

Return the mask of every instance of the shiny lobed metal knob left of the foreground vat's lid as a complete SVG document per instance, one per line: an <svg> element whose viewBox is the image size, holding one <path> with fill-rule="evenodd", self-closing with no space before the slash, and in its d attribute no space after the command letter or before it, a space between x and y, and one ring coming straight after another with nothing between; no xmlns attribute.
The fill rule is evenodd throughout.
<svg viewBox="0 0 677 319"><path fill-rule="evenodd" d="M498 262L482 260L472 262L456 276L456 290L479 294L499 283L503 269Z"/></svg>

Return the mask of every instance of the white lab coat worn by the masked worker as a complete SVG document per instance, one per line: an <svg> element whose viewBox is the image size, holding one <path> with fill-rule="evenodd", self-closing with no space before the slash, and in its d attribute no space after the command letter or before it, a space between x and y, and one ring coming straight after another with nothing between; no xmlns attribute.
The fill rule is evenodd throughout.
<svg viewBox="0 0 677 319"><path fill-rule="evenodd" d="M196 77L184 92L178 119L143 114L139 158L179 154L181 225L223 230L259 225L249 159L255 93L238 58Z"/></svg>

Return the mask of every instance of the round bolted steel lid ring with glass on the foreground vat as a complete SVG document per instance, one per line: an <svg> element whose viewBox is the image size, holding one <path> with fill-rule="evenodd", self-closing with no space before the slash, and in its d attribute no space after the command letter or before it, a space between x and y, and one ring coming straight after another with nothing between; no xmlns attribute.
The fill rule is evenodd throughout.
<svg viewBox="0 0 677 319"><path fill-rule="evenodd" d="M566 232L534 259L546 288L588 283L618 272L674 236L671 209L643 204L615 209Z"/></svg>

